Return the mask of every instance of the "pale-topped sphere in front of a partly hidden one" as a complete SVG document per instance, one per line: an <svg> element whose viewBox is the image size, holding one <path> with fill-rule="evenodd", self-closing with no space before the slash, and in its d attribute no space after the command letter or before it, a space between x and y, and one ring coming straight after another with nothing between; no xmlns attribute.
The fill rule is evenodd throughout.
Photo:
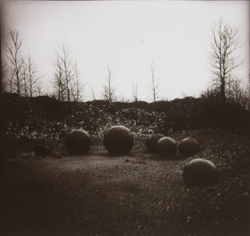
<svg viewBox="0 0 250 236"><path fill-rule="evenodd" d="M170 137L163 137L157 142L157 153L161 157L173 158L177 153L177 142Z"/></svg>

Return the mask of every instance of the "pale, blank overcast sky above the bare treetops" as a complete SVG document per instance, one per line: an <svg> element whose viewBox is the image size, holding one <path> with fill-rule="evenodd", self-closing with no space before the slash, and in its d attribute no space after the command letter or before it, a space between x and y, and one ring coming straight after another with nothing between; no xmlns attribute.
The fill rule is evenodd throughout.
<svg viewBox="0 0 250 236"><path fill-rule="evenodd" d="M153 100L151 69L158 99L198 97L212 80L208 60L211 27L220 18L239 27L244 64L236 71L247 84L249 71L248 1L5 1L2 2L1 40L18 30L22 54L30 55L46 93L52 92L54 49L66 43L80 79L84 100L103 98L112 71L118 99ZM2 50L3 52L3 50Z"/></svg>

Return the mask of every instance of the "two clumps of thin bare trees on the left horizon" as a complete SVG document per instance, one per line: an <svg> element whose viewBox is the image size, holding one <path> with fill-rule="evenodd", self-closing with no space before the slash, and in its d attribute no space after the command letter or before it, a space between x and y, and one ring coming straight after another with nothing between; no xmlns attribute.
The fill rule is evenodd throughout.
<svg viewBox="0 0 250 236"><path fill-rule="evenodd" d="M23 56L22 40L17 30L10 31L11 42L5 43L4 53L7 60L1 60L2 93L17 93L24 97L44 95L41 79L30 55ZM59 101L81 101L83 85L77 63L70 57L66 44L54 48L55 71L50 81L53 91L50 95Z"/></svg>

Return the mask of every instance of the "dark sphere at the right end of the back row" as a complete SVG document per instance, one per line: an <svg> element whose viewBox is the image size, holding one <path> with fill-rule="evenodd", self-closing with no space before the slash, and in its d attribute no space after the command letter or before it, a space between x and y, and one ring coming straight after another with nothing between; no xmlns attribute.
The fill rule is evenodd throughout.
<svg viewBox="0 0 250 236"><path fill-rule="evenodd" d="M179 152L182 156L190 157L200 150L200 145L195 138L184 138L179 144Z"/></svg>

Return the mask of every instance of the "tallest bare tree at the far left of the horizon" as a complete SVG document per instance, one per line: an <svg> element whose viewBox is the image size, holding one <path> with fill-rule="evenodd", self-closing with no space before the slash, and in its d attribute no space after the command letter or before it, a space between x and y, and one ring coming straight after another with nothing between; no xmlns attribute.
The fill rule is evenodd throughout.
<svg viewBox="0 0 250 236"><path fill-rule="evenodd" d="M19 39L19 33L17 30L10 31L11 43L5 44L5 49L7 50L7 58L9 59L9 84L18 95L21 95L23 92L23 69L24 69L24 60L21 55L21 46L22 41Z"/></svg>

